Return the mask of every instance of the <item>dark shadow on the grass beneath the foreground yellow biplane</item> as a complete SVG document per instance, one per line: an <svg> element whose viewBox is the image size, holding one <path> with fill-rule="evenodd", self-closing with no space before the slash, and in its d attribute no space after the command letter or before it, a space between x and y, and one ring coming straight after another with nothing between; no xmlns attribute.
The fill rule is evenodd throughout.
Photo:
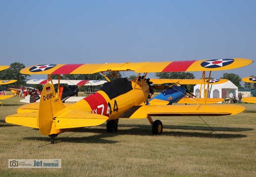
<svg viewBox="0 0 256 177"><path fill-rule="evenodd" d="M124 129L125 128L125 129ZM128 128L128 129L127 129ZM243 134L227 134L227 133L218 133L219 131L224 132L242 132L242 131L252 131L252 128L230 128L230 127L212 127L205 126L172 126L164 125L163 126L164 136L175 136L175 137L198 137L198 138L220 138L220 139L230 139L230 138L245 138L246 135ZM192 131L207 131L207 132L183 132L183 131L165 131L166 129L173 130L192 130ZM33 130L38 131L38 129L33 128ZM83 137L75 137L75 133L84 133ZM95 133L96 135L86 136L86 133ZM81 134L80 134L81 135ZM115 144L118 141L107 140L106 138L120 136L120 135L136 135L136 136L154 136L152 135L152 130L150 125L122 125L119 126L117 132L110 133L107 132L106 127L103 125L88 128L80 128L70 132L65 132L56 137L57 143L60 142L71 142L71 143L95 143L95 144ZM161 136L161 135L160 135ZM48 136L45 137L26 137L25 140L37 140L37 141L51 141L51 138Z"/></svg>

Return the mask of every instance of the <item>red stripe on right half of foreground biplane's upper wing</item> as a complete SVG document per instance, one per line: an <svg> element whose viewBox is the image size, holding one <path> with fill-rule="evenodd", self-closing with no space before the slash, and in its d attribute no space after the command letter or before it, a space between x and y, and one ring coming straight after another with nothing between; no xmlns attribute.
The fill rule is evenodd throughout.
<svg viewBox="0 0 256 177"><path fill-rule="evenodd" d="M193 64L196 60L187 61L173 61L168 66L166 66L162 72L182 72L186 71L187 68Z"/></svg>

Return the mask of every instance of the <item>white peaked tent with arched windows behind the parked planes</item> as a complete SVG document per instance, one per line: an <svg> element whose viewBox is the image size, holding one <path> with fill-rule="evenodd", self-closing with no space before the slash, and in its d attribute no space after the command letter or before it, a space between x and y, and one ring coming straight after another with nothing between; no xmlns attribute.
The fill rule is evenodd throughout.
<svg viewBox="0 0 256 177"><path fill-rule="evenodd" d="M194 87L194 95L196 97L199 97L199 91L200 91L200 84L197 84ZM209 93L208 93L208 97L209 98L229 98L229 93L232 92L233 94L236 95L236 97L238 96L238 88L231 82L231 81L227 81L223 84L213 84L209 86ZM205 88L207 88L207 85L205 86ZM204 91L206 90L204 89L204 86L202 86L202 90L201 90L201 98L204 97Z"/></svg>

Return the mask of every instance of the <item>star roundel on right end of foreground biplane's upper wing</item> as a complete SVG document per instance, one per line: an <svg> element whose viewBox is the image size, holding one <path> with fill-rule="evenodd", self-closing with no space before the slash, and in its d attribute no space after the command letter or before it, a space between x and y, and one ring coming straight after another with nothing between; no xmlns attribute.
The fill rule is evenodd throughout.
<svg viewBox="0 0 256 177"><path fill-rule="evenodd" d="M234 62L234 59L210 59L201 63L205 68L223 67Z"/></svg>

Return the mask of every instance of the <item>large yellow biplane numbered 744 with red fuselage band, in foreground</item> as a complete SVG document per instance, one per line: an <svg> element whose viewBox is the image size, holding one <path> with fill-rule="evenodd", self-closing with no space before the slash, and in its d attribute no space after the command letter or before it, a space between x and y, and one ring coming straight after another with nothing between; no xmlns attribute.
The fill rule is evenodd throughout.
<svg viewBox="0 0 256 177"><path fill-rule="evenodd" d="M147 104L149 84L145 79L148 72L190 72L203 71L202 85L206 84L206 71L227 70L246 66L251 59L206 59L164 62L126 62L98 64L40 64L26 67L22 74L93 74L101 72L108 81L106 72L135 71L137 79L117 78L107 82L102 89L74 104L63 103L51 84L46 83L39 103L31 103L20 108L18 114L5 118L7 123L39 128L42 135L55 137L63 132L82 127L100 125L107 121L107 131L117 131L117 123L122 118L147 118L152 125L153 134L161 134L163 125L152 116L225 116L244 111L245 107L235 104L218 105L204 103L194 105L167 105L169 101L161 100L159 105ZM163 103L165 102L165 103ZM39 104L39 105L37 105Z"/></svg>

